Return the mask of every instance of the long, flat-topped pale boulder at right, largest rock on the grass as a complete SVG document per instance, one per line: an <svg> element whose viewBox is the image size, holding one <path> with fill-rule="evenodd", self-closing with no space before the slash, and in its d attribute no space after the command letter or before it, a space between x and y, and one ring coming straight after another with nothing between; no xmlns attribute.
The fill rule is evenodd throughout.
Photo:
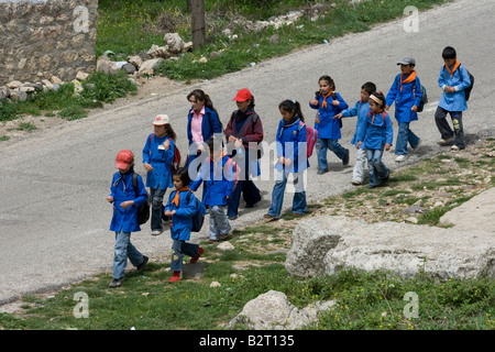
<svg viewBox="0 0 495 352"><path fill-rule="evenodd" d="M493 198L492 198L493 199ZM492 222L492 223L487 223ZM294 230L286 270L296 276L341 270L389 271L413 277L420 271L446 280L487 274L495 278L494 217L486 230L408 223L366 223L344 217L314 217Z"/></svg>

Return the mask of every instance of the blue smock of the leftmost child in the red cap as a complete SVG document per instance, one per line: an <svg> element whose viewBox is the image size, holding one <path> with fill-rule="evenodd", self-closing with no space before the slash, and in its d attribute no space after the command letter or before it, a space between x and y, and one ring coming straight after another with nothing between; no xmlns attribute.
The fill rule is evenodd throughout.
<svg viewBox="0 0 495 352"><path fill-rule="evenodd" d="M131 169L127 174L116 173L110 186L110 196L113 197L113 217L110 223L110 231L114 232L138 232L141 231L138 222L138 208L147 200L146 188L143 178L138 175L138 195L132 185ZM123 209L121 204L127 200L134 200L134 205Z"/></svg>

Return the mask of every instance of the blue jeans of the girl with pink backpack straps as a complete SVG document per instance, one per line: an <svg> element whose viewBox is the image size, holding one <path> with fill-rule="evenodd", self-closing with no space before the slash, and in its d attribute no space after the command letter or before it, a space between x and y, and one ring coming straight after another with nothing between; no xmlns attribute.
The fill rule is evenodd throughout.
<svg viewBox="0 0 495 352"><path fill-rule="evenodd" d="M307 210L306 205L306 191L304 186L302 173L295 173L295 193L293 198L293 212L305 215ZM277 172L277 180L273 187L272 193L272 206L270 207L268 215L278 219L280 217L282 206L284 204L284 193L287 185L288 174L284 172ZM297 183L296 183L297 180Z"/></svg>

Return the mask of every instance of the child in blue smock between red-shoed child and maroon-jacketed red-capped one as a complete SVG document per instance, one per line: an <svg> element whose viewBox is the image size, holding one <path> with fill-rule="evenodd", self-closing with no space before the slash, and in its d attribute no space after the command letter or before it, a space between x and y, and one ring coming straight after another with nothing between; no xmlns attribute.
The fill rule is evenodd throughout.
<svg viewBox="0 0 495 352"><path fill-rule="evenodd" d="M235 166L233 161L223 153L222 141L209 139L207 145L210 157L202 165L199 177L190 185L196 191L205 183L205 206L210 215L210 243L224 240L231 229L229 219L223 211L234 188Z"/></svg>

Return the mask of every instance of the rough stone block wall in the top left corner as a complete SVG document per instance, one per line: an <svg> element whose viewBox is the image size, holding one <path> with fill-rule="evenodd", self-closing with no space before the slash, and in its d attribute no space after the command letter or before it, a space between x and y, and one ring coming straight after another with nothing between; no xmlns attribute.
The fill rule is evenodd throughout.
<svg viewBox="0 0 495 352"><path fill-rule="evenodd" d="M98 0L0 0L0 86L96 69Z"/></svg>

